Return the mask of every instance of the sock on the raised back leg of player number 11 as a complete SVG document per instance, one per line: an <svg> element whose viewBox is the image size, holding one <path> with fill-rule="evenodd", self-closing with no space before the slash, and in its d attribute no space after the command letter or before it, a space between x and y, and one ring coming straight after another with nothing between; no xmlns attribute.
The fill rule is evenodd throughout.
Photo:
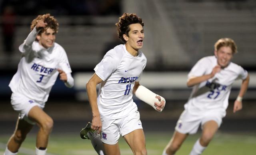
<svg viewBox="0 0 256 155"><path fill-rule="evenodd" d="M104 148L100 136L92 131L89 131L87 135L90 138L92 146L94 147L98 155L104 155Z"/></svg>

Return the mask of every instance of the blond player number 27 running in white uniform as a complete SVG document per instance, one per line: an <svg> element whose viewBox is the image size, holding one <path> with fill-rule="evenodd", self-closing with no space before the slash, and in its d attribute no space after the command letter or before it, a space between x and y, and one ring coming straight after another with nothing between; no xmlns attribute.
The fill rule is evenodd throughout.
<svg viewBox="0 0 256 155"><path fill-rule="evenodd" d="M200 155L206 149L226 115L228 97L236 79L242 79L242 84L233 112L242 109L249 74L241 66L230 62L237 52L236 43L230 38L221 38L214 48L215 56L200 59L188 74L187 85L193 90L163 155L174 155L188 134L197 132L200 124L202 135L190 155Z"/></svg>

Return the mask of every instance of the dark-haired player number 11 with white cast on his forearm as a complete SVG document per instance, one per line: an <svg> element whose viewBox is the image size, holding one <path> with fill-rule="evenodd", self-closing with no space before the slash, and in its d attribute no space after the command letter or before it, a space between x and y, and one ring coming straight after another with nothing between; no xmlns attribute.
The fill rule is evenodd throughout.
<svg viewBox="0 0 256 155"><path fill-rule="evenodd" d="M86 84L92 109L91 129L101 132L106 155L120 155L120 135L134 154L146 155L140 113L132 93L157 111L162 111L165 100L139 83L146 66L146 57L140 51L144 40L142 18L124 13L116 26L124 44L106 53ZM98 98L97 84L100 84Z"/></svg>

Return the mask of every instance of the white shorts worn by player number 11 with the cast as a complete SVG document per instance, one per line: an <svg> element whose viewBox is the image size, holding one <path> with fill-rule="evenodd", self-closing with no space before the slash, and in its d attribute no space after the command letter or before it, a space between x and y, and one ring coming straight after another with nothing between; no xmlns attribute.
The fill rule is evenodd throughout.
<svg viewBox="0 0 256 155"><path fill-rule="evenodd" d="M139 111L131 113L127 117L120 119L101 119L102 132L101 140L103 143L114 145L122 137L136 129L143 129L140 121Z"/></svg>

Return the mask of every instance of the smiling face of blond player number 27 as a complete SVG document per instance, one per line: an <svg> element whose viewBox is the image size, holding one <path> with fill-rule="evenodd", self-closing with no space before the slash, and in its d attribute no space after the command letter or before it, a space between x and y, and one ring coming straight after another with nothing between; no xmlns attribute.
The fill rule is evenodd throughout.
<svg viewBox="0 0 256 155"><path fill-rule="evenodd" d="M218 51L215 51L214 54L221 68L227 67L233 58L232 50L229 46L222 46Z"/></svg>

